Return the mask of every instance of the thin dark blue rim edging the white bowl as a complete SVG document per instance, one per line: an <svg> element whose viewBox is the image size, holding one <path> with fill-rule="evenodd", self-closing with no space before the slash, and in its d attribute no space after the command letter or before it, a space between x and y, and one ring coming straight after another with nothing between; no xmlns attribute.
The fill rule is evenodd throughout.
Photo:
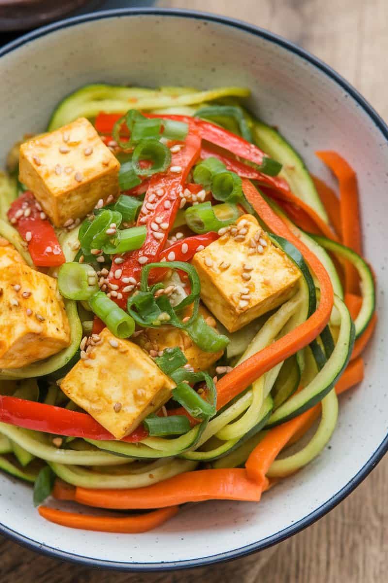
<svg viewBox="0 0 388 583"><path fill-rule="evenodd" d="M376 127L380 130L383 137L388 141L388 126L378 115L378 113L373 109L373 107L358 93L356 89L350 83L347 82L339 73L334 71L330 66L326 65L320 59L311 55L308 51L305 51L296 44L291 43L283 37L277 34L271 33L268 30L261 29L252 24L247 24L241 22L241 20L236 20L233 18L228 18L224 16L218 16L209 14L206 12L197 12L195 10L184 10L184 9L157 9L157 8L123 8L116 10L102 10L100 12L94 12L91 14L86 14L83 16L76 16L73 18L68 18L65 20L60 20L54 24L48 24L48 26L41 27L40 29L34 30L24 36L17 38L11 43L6 44L0 49L0 57L8 54L11 51L16 50L22 45L29 43L45 34L54 32L55 30L64 29L69 26L76 26L77 24L83 22L91 22L92 20L100 20L104 18L111 18L114 16L179 16L185 18L192 18L197 20L202 20L204 22L215 22L219 24L225 24L226 26L231 26L239 30L243 30L247 33L254 34L265 38L272 43L280 45L283 48L293 52L308 61L310 64L314 65L321 72L325 73L330 79L332 79L337 85L342 87L346 94L353 97L354 101L361 106L366 114L369 115L371 120L375 123ZM73 553L66 553L60 549L55 549L55 547L50 547L48 545L42 545L42 543L37 540L30 539L26 536L20 535L20 533L13 531L5 525L0 523L0 533L13 539L20 545L26 546L29 549L45 554L49 557L53 557L59 560L66 560L72 563L81 564L84 567L97 567L104 570L118 570L118 571L169 571L174 569L183 568L193 568L193 567L204 567L214 563L219 563L220 561L230 561L243 557L245 555L257 552L259 550L266 549L272 545L282 542L293 536L302 529L313 524L316 520L321 518L327 512L332 510L337 504L339 504L344 498L346 498L354 489L365 479L366 476L372 471L373 468L378 464L383 455L388 451L388 435L373 453L368 462L359 470L359 472L344 486L339 492L337 492L332 498L322 504L320 507L316 508L313 512L302 518L300 521L284 528L282 531L275 533L274 535L268 536L265 539L259 540L256 543L251 543L251 545L246 545L240 549L234 549L229 552L219 553L212 556L202 557L201 559L191 559L183 561L170 561L162 563L122 563L118 561L106 561L98 559L90 559L89 557L80 556Z"/></svg>

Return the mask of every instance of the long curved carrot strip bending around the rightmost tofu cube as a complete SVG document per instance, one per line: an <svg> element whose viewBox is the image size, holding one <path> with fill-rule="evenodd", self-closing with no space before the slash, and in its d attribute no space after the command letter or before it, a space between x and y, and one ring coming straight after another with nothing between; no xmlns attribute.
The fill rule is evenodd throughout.
<svg viewBox="0 0 388 583"><path fill-rule="evenodd" d="M329 321L333 307L334 295L330 278L319 259L304 245L290 229L284 224L270 206L262 198L252 182L243 178L243 190L248 201L254 207L258 215L273 233L286 238L295 245L304 255L304 258L314 271L321 289L321 301L314 314L305 322L297 326L293 331L283 336L270 346L266 346L239 366L233 368L217 383L217 408L220 409L254 380L260 377L277 363L295 354L302 347L307 346Z"/></svg>

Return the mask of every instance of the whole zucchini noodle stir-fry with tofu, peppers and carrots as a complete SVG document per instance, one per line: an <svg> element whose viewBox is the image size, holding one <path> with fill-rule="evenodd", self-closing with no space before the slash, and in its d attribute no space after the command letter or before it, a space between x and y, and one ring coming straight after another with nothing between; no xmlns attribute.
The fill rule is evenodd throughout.
<svg viewBox="0 0 388 583"><path fill-rule="evenodd" d="M259 502L363 378L355 172L316 152L336 194L248 95L90 85L9 153L0 468L49 521L144 532L185 503Z"/></svg>

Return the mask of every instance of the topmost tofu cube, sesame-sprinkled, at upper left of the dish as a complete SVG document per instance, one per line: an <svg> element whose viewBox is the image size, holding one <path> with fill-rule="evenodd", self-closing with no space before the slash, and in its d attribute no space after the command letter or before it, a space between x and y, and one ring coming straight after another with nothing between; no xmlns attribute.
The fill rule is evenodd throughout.
<svg viewBox="0 0 388 583"><path fill-rule="evenodd" d="M119 161L90 121L79 118L20 146L19 178L56 227L119 195Z"/></svg>

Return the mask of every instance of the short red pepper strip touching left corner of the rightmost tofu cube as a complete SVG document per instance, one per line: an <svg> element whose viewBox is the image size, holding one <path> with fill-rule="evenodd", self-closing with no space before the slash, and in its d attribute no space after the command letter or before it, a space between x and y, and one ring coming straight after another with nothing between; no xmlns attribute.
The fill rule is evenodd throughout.
<svg viewBox="0 0 388 583"><path fill-rule="evenodd" d="M197 251L201 251L213 243L213 241L216 241L218 237L219 235L217 233L209 231L209 233L204 233L203 235L195 235L193 237L180 239L161 252L159 255L159 261L190 261L190 259L193 259ZM183 245L186 245L187 249L186 247L183 247ZM166 275L167 271L168 267L166 267L166 269L152 269L149 273L148 281L150 283L160 282Z"/></svg>

